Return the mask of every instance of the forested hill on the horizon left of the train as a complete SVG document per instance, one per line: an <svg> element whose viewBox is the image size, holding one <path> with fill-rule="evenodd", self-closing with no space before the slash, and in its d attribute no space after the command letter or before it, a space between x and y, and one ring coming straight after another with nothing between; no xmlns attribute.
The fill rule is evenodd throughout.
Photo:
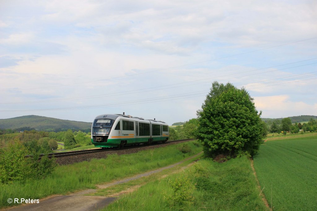
<svg viewBox="0 0 317 211"><path fill-rule="evenodd" d="M77 122L36 115L0 119L0 129L20 129L39 131L62 131L67 129L85 130L90 129L89 122Z"/></svg>

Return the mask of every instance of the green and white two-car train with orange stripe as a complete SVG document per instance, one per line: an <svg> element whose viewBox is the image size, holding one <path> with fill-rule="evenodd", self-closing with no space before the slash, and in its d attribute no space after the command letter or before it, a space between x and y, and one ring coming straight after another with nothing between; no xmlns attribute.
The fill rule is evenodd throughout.
<svg viewBox="0 0 317 211"><path fill-rule="evenodd" d="M165 122L123 114L104 114L94 119L91 141L95 147L123 147L133 144L166 142L169 128Z"/></svg>

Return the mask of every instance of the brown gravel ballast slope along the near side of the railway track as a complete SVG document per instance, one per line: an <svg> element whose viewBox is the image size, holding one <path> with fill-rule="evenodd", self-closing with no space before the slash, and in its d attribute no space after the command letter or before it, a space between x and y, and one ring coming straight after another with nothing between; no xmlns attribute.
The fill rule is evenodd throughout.
<svg viewBox="0 0 317 211"><path fill-rule="evenodd" d="M107 155L112 155L112 154L117 154L117 155L123 155L123 154L130 154L130 153L136 153L141 150L149 150L149 149L155 149L159 147L165 147L167 145L171 144L179 144L187 141L192 141L194 139L184 139L184 140L175 140L175 141L168 141L166 143L154 143L154 144L149 144L149 145L132 145L132 146L127 146L123 148L116 148L116 149L107 149L107 150L94 150L94 152L90 153L84 153L84 154L68 154L68 155L63 155L61 157L55 157L56 158L56 163L60 165L67 165L67 164L72 164L72 163L79 163L82 161L89 161L93 158L105 158Z"/></svg>

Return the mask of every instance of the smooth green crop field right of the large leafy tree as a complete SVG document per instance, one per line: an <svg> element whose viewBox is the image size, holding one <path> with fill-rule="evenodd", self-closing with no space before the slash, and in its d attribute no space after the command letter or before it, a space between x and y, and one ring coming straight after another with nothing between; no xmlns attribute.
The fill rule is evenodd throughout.
<svg viewBox="0 0 317 211"><path fill-rule="evenodd" d="M317 136L268 141L253 159L273 210L317 210Z"/></svg>

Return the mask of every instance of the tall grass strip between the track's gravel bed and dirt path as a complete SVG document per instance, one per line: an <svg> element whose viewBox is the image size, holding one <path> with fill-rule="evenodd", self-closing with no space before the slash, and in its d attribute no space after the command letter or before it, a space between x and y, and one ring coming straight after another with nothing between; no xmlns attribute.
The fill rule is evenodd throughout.
<svg viewBox="0 0 317 211"><path fill-rule="evenodd" d="M96 184L177 163L202 150L197 142L191 141L187 144L191 149L188 153L183 153L179 149L183 144L173 144L133 154L113 154L104 159L58 166L51 175L42 180L0 184L0 207L12 205L7 203L8 198L40 199L48 195L95 188Z"/></svg>

